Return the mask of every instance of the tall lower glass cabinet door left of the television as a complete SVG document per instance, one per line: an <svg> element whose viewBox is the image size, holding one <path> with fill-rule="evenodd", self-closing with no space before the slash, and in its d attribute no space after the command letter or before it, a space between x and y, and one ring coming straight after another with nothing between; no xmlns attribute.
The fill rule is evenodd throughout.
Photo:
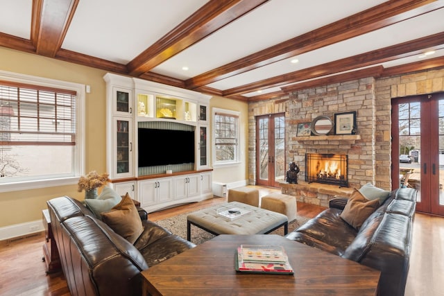
<svg viewBox="0 0 444 296"><path fill-rule="evenodd" d="M130 136L130 121L117 119L116 121L116 163L115 172L117 175L129 174L131 172L131 157L133 143Z"/></svg>

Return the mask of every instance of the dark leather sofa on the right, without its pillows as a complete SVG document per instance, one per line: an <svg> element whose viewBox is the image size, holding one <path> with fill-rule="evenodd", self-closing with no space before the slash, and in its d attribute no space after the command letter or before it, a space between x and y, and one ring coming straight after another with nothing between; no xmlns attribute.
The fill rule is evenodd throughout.
<svg viewBox="0 0 444 296"><path fill-rule="evenodd" d="M378 295L404 295L416 194L410 188L391 191L359 231L340 216L347 198L335 198L329 209L287 234L287 238L380 270Z"/></svg>

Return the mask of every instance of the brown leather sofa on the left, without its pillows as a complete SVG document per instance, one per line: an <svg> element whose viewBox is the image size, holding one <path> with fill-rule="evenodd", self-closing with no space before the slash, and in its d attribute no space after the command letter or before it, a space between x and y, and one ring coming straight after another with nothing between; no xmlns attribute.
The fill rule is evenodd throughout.
<svg viewBox="0 0 444 296"><path fill-rule="evenodd" d="M47 204L74 296L141 295L142 270L195 247L149 220L142 220L144 231L132 245L78 200L63 196Z"/></svg>

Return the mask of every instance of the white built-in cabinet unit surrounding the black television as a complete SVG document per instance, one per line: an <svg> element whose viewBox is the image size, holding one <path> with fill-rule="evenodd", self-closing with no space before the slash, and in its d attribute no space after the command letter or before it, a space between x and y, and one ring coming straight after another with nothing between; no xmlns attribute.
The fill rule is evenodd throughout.
<svg viewBox="0 0 444 296"><path fill-rule="evenodd" d="M107 73L107 170L117 193L127 192L148 212L212 197L210 96L138 78ZM194 170L141 175L137 127L176 122L195 130ZM155 157L155 155L154 155Z"/></svg>

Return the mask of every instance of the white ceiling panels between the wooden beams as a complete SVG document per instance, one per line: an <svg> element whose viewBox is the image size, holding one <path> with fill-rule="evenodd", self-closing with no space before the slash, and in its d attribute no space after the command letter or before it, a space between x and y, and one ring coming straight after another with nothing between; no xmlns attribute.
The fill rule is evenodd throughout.
<svg viewBox="0 0 444 296"><path fill-rule="evenodd" d="M44 0L43 10L46 9L46 5L53 5L51 2L54 1ZM61 48L125 65L207 2L212 1L79 0L65 39L62 40ZM150 71L178 80L194 78L384 2L390 1L266 1L243 17L232 21L200 42L153 67ZM429 2L435 3L425 4L418 9L427 5L436 6L436 3L444 6L443 0ZM31 40L32 6L32 0L1 0L0 33ZM281 58L263 67L256 67L251 71L211 82L205 86L223 92L234 87L443 32L444 8L438 7L432 12L323 46L320 49L307 51L296 57ZM443 44L434 48L424 48L423 51L430 49L435 49L436 53L424 59L444 56ZM294 58L298 59L298 63L290 62ZM418 54L415 53L408 58L388 59L387 62L371 64L368 67L381 64L384 68L388 68L418 62L418 60L420 60ZM182 70L185 66L189 68L188 71ZM313 78L309 78L311 79ZM305 78L301 77L298 82L304 80ZM290 84L261 87L260 90L262 94L278 92L280 87ZM257 90L259 89L246 92L242 96L257 96Z"/></svg>

